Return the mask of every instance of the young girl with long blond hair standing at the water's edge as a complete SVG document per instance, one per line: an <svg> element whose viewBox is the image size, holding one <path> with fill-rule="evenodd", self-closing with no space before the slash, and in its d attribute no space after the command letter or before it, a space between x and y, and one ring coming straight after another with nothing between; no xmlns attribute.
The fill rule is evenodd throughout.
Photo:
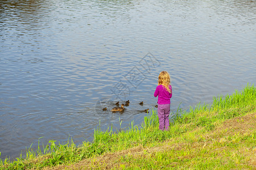
<svg viewBox="0 0 256 170"><path fill-rule="evenodd" d="M169 129L169 114L172 97L170 74L167 71L161 71L158 76L158 86L156 87L154 96L158 96L158 118L159 129Z"/></svg>

